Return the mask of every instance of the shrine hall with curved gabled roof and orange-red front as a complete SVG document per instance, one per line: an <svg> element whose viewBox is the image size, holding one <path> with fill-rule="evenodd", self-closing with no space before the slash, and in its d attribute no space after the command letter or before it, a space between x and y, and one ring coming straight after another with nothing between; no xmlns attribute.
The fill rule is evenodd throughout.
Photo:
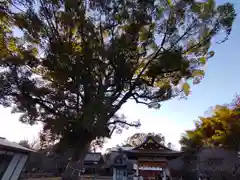
<svg viewBox="0 0 240 180"><path fill-rule="evenodd" d="M171 150L158 143L153 136L147 136L137 147L125 150L129 160L135 162L136 175L144 179L157 180L159 176L170 176L168 160L181 156L181 152Z"/></svg>

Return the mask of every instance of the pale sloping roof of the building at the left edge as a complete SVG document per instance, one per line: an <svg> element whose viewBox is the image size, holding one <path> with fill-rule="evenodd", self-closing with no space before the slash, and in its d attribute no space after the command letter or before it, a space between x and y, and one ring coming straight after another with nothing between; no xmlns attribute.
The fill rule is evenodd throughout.
<svg viewBox="0 0 240 180"><path fill-rule="evenodd" d="M33 150L25 148L21 145L19 145L18 143L15 142L10 142L7 139L0 137L0 150L2 149L11 149L11 150L15 150L15 151L25 151L25 152L33 152Z"/></svg>

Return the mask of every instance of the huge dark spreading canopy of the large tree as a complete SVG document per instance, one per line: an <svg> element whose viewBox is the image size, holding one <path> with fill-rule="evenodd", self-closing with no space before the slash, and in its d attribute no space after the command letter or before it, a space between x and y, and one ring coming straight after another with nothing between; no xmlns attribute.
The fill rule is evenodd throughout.
<svg viewBox="0 0 240 180"><path fill-rule="evenodd" d="M5 0L1 9L0 104L76 152L138 126L117 114L128 100L158 108L188 95L236 16L215 0Z"/></svg>

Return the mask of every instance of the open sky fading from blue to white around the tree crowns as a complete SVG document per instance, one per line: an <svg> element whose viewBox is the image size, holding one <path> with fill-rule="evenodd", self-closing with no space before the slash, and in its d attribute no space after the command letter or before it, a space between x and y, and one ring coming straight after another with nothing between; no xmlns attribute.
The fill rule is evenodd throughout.
<svg viewBox="0 0 240 180"><path fill-rule="evenodd" d="M227 0L217 0L224 3ZM240 14L240 0L228 0L235 5ZM240 94L240 16L237 16L229 40L224 44L213 44L215 56L206 67L206 75L202 82L192 87L191 95L186 99L175 98L163 102L159 110L148 109L135 102L127 102L120 110L129 121L140 120L140 128L129 128L121 134L113 134L104 145L102 151L123 143L128 136L136 132L162 133L166 142L171 142L176 149L181 134L194 128L194 120L204 116L205 112L217 104L231 102L236 94ZM11 114L10 108L0 107L0 137L10 141L33 140L38 136L40 125L28 126L18 121L19 115Z"/></svg>

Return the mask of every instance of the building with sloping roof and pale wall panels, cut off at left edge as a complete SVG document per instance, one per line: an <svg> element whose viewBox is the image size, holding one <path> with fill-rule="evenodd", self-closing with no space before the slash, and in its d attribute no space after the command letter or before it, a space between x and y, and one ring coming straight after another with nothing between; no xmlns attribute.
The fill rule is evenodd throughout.
<svg viewBox="0 0 240 180"><path fill-rule="evenodd" d="M32 150L0 137L0 180L17 180Z"/></svg>

